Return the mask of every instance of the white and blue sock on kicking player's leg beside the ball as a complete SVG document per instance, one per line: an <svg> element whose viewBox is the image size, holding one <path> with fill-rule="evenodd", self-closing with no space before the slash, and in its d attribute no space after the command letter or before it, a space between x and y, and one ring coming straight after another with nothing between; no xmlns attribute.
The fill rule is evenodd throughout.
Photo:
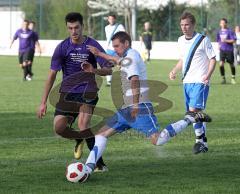
<svg viewBox="0 0 240 194"><path fill-rule="evenodd" d="M93 147L92 151L90 152L90 154L88 155L88 158L86 161L86 166L87 166L89 173L91 173L94 170L98 159L102 156L102 153L106 148L106 144L107 144L106 137L104 137L102 135L95 136L94 147Z"/></svg>

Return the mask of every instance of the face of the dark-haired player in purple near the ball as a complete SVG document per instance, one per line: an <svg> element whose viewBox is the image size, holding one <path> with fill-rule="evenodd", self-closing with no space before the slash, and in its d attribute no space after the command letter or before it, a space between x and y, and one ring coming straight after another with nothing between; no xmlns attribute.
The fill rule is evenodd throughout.
<svg viewBox="0 0 240 194"><path fill-rule="evenodd" d="M83 26L79 23L79 21L72 23L67 22L67 29L73 42L78 42L82 38Z"/></svg>

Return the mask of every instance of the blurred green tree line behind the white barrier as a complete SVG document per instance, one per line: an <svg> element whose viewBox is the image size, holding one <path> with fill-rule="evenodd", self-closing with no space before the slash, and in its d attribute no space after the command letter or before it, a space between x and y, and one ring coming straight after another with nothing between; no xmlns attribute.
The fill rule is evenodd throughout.
<svg viewBox="0 0 240 194"><path fill-rule="evenodd" d="M104 27L107 25L106 15L91 17L87 0L21 0L21 10L26 19L37 23L37 31L41 39L64 39L67 37L65 15L68 12L80 12L84 17L84 33L98 40L105 39ZM219 28L219 19L225 17L229 27L239 25L238 0L209 0L208 4L190 7L188 4L176 4L174 0L156 10L137 11L137 33L143 31L143 24L149 21L152 25L153 38L156 41L176 41L181 35L179 16L185 10L191 11L197 20L198 32L207 33L214 41ZM116 13L117 15L117 13ZM124 23L124 17L118 16L118 21Z"/></svg>

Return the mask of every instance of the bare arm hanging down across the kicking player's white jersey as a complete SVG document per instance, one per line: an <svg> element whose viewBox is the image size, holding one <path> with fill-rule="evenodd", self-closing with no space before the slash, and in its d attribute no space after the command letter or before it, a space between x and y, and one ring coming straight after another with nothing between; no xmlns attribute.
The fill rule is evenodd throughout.
<svg viewBox="0 0 240 194"><path fill-rule="evenodd" d="M133 109L131 112L131 116L135 118L138 114L138 104L139 104L139 97L140 97L140 81L138 76L132 76L130 78L131 81L131 89L133 93Z"/></svg>

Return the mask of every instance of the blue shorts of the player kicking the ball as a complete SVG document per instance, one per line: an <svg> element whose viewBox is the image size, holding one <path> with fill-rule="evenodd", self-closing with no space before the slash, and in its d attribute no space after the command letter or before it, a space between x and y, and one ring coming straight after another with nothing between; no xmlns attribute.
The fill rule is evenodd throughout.
<svg viewBox="0 0 240 194"><path fill-rule="evenodd" d="M118 133L130 128L145 134L147 137L158 132L159 124L154 115L151 103L141 103L138 105L139 113L136 118L131 117L132 107L120 109L107 121L107 126L115 129Z"/></svg>

